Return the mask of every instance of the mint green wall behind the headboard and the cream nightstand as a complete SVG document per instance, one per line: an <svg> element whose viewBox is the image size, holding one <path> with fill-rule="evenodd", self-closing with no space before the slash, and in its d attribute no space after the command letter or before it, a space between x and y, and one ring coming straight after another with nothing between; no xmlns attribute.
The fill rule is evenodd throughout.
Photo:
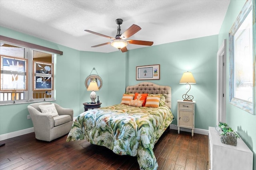
<svg viewBox="0 0 256 170"><path fill-rule="evenodd" d="M189 94L194 96L195 128L216 125L216 53L218 35L178 41L128 51L128 84L138 84L136 66L160 64L160 80L150 82L172 87L172 113L177 120L177 100L182 100L186 86L179 84L183 72L191 71L196 84ZM172 124L177 125L177 121Z"/></svg>

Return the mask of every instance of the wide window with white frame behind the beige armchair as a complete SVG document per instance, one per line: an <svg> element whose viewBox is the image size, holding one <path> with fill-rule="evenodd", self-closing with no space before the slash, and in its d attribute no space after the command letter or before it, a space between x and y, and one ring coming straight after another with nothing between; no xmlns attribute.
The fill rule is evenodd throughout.
<svg viewBox="0 0 256 170"><path fill-rule="evenodd" d="M0 43L0 104L54 100L56 54Z"/></svg>

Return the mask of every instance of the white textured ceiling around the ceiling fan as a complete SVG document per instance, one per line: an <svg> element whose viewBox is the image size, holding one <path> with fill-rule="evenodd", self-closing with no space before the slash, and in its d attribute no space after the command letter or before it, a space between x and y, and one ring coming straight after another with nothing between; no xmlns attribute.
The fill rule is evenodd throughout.
<svg viewBox="0 0 256 170"><path fill-rule="evenodd" d="M109 53L114 47L93 45L110 39L121 18L123 33L132 24L142 29L128 39L174 41L216 35L230 0L0 0L0 26L80 51ZM1 31L1 30L0 30ZM128 44L127 49L146 47Z"/></svg>

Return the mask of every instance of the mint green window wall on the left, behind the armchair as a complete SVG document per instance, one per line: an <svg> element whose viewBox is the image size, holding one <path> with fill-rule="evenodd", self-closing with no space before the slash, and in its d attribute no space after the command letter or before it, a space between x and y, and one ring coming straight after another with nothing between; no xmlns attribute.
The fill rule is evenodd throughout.
<svg viewBox="0 0 256 170"><path fill-rule="evenodd" d="M74 115L80 113L80 53L77 50L54 44L49 41L25 35L11 29L0 27L0 35L19 39L29 43L42 45L63 51L62 56L57 56L56 64L56 101L63 107L73 108ZM0 134L19 131L33 127L31 119L27 120L28 104L0 106Z"/></svg>

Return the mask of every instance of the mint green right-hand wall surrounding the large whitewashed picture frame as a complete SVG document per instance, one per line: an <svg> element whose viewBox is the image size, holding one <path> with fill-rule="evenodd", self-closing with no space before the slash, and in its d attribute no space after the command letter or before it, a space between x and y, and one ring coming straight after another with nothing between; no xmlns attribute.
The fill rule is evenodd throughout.
<svg viewBox="0 0 256 170"><path fill-rule="evenodd" d="M228 33L236 20L238 14L242 10L246 0L231 0L220 29L218 37L218 46L222 44L224 39L227 39L227 70L226 70L226 91L229 92L229 41ZM254 23L255 24L255 23ZM255 31L255 30L254 30ZM254 42L255 43L255 42ZM246 145L254 153L254 170L256 170L256 115L252 115L238 107L229 103L229 98L226 99L226 123L238 132Z"/></svg>

